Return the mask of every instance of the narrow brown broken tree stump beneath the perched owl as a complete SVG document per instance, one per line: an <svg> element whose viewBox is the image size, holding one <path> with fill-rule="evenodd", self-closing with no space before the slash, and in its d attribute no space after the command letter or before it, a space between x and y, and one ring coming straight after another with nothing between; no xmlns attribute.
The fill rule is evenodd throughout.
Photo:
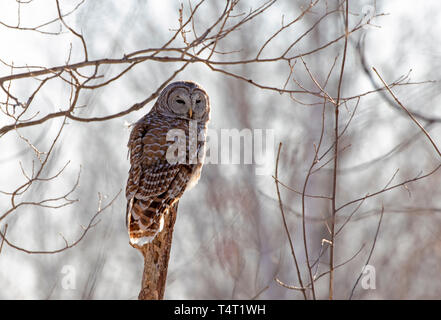
<svg viewBox="0 0 441 320"><path fill-rule="evenodd" d="M172 246L173 227L176 221L178 203L164 217L164 227L151 243L137 249L144 256L144 273L142 275L139 300L162 300L167 280L168 261Z"/></svg>

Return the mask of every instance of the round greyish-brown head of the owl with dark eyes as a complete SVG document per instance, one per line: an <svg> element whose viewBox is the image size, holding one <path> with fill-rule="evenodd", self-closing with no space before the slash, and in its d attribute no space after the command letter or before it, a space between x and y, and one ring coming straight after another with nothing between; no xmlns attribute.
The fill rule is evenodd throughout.
<svg viewBox="0 0 441 320"><path fill-rule="evenodd" d="M170 83L162 90L153 108L162 115L186 120L206 122L210 118L208 95L192 81Z"/></svg>

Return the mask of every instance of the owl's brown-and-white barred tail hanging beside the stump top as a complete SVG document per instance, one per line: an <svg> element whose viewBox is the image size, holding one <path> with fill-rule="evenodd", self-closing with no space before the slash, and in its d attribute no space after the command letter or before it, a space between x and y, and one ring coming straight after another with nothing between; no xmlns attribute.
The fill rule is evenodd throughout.
<svg viewBox="0 0 441 320"><path fill-rule="evenodd" d="M126 225L132 246L151 243L164 226L164 215L170 206L177 210L177 201L155 197L147 200L132 198L127 203Z"/></svg>

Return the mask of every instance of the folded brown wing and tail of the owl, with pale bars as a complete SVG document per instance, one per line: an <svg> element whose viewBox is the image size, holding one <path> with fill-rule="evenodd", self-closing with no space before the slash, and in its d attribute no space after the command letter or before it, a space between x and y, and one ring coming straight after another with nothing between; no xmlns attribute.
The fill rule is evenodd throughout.
<svg viewBox="0 0 441 320"><path fill-rule="evenodd" d="M163 214L177 203L193 172L194 165L167 161L171 142L161 141L164 135L157 131L157 123L149 128L147 121L140 122L129 139L126 224L132 244L151 241L162 230Z"/></svg>

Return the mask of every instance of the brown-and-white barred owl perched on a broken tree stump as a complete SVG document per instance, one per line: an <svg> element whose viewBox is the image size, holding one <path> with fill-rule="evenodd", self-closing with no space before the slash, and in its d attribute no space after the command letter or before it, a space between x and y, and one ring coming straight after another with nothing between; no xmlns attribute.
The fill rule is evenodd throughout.
<svg viewBox="0 0 441 320"><path fill-rule="evenodd" d="M132 246L151 242L164 216L177 209L185 190L199 180L205 157L210 103L191 81L169 84L138 120L128 143L126 224Z"/></svg>

